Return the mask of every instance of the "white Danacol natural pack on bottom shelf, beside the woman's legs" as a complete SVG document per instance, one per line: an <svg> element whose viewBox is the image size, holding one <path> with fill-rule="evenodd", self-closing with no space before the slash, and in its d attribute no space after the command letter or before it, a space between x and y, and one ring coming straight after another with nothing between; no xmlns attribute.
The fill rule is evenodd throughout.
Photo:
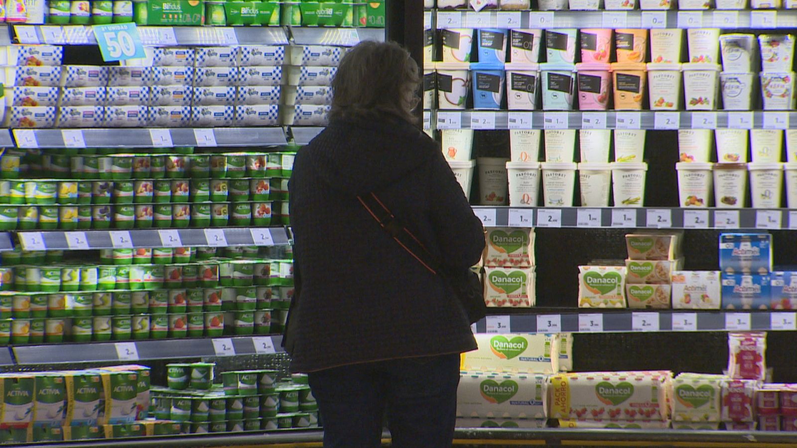
<svg viewBox="0 0 797 448"><path fill-rule="evenodd" d="M461 371L457 417L544 419L548 375Z"/></svg>

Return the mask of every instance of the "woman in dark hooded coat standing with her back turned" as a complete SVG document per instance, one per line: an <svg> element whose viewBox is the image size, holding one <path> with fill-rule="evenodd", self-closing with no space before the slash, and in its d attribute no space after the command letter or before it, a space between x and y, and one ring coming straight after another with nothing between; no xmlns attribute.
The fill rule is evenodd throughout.
<svg viewBox="0 0 797 448"><path fill-rule="evenodd" d="M459 354L476 348L440 277L358 200L375 192L447 269L468 269L483 229L438 143L420 131L418 65L366 41L340 61L329 126L296 155L290 180L296 301L286 348L308 372L324 446L450 446Z"/></svg>

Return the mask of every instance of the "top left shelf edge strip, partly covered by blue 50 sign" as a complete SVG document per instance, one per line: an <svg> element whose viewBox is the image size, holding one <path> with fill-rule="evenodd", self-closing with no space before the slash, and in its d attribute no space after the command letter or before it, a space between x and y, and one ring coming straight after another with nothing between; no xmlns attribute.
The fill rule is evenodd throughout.
<svg viewBox="0 0 797 448"><path fill-rule="evenodd" d="M138 30L143 45L288 44L288 35L281 27L139 26ZM25 44L96 45L97 43L92 27L82 25L18 25L14 26L14 37L19 43Z"/></svg>

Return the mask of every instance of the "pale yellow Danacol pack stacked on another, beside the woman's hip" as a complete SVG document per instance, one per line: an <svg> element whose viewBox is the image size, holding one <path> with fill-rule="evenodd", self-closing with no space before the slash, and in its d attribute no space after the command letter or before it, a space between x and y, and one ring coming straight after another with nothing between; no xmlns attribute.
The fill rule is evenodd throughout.
<svg viewBox="0 0 797 448"><path fill-rule="evenodd" d="M479 348L462 353L460 370L508 373L559 371L559 335L479 333Z"/></svg>

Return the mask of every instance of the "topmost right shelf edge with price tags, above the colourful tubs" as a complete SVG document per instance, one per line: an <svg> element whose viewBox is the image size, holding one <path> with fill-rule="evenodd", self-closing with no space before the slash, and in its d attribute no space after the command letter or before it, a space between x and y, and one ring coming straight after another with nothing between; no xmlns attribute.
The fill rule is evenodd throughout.
<svg viewBox="0 0 797 448"><path fill-rule="evenodd" d="M789 29L797 27L795 10L438 11L436 18L437 28Z"/></svg>

